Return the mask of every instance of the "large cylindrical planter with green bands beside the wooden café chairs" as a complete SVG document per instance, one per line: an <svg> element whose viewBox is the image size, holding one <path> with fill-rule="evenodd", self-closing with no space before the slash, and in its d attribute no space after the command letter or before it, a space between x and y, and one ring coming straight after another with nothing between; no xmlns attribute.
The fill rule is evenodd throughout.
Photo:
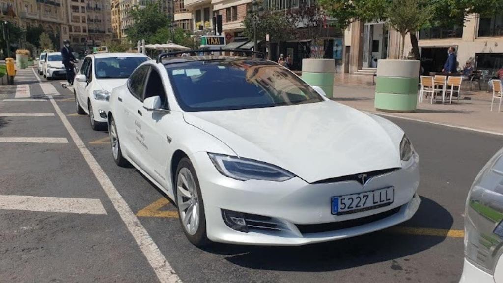
<svg viewBox="0 0 503 283"><path fill-rule="evenodd" d="M414 112L420 67L418 60L379 60L375 108L389 112Z"/></svg>

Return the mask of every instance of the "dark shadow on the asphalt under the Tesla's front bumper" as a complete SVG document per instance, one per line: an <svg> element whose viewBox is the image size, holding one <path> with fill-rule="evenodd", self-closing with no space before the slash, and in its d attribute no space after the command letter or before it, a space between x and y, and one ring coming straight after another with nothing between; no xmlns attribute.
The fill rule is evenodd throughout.
<svg viewBox="0 0 503 283"><path fill-rule="evenodd" d="M450 229L451 214L431 199L422 197L416 215L401 224L407 227ZM300 247L238 246L214 244L207 252L229 255L229 262L254 269L282 271L332 271L407 257L444 241L438 236L395 234L383 230L339 241ZM407 259L405 259L407 261ZM396 266L395 266L396 265ZM396 261L391 268L400 269Z"/></svg>

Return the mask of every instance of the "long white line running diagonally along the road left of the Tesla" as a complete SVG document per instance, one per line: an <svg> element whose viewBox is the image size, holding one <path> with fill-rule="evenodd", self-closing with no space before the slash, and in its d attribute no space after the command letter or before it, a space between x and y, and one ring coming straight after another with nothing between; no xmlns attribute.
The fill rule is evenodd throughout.
<svg viewBox="0 0 503 283"><path fill-rule="evenodd" d="M100 164L96 161L86 145L82 142L82 139L80 139L75 129L73 129L70 122L68 122L68 119L64 115L63 111L61 111L61 108L59 108L56 101L54 101L52 97L49 97L49 100L56 110L56 113L58 113L59 117L61 118L61 121L66 127L66 130L70 133L70 136L77 146L77 149L80 151L83 158L88 163L89 167L96 176L96 179L98 179L98 182L100 182L100 185L114 205L115 210L117 210L117 212L119 213L122 221L124 221L124 224L135 239L138 247L143 252L143 255L145 255L148 263L150 264L150 266L152 266L159 281L162 283L181 283L182 280L180 279L180 277L178 277L171 264L160 252L159 248L152 240L145 227L141 225L140 221L134 215L127 202L124 200L124 198L122 198L121 194L114 186L112 181L110 181L107 174L105 174Z"/></svg>

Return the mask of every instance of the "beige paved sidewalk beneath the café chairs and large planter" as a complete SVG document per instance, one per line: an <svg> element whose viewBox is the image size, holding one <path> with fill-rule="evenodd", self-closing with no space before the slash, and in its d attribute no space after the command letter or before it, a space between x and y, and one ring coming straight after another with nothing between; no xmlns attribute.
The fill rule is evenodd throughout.
<svg viewBox="0 0 503 283"><path fill-rule="evenodd" d="M337 74L334 80L333 100L363 111L503 135L503 109L498 113L495 103L493 111L490 111L492 93L478 90L470 92L462 89L459 103L454 97L452 104L435 102L430 104L429 99L424 99L423 103L417 103L415 113L390 113L375 109L374 90L371 76Z"/></svg>

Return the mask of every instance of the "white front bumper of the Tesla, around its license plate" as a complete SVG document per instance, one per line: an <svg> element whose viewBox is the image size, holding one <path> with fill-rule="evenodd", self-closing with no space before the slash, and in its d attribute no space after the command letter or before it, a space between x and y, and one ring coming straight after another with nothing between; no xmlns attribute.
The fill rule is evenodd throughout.
<svg viewBox="0 0 503 283"><path fill-rule="evenodd" d="M198 153L194 158L204 200L206 232L208 238L215 242L296 246L339 240L404 222L414 215L421 203L416 194L420 179L416 154L403 168L376 176L365 186L355 181L309 184L298 177L284 182L242 182L222 176L207 153ZM341 216L331 214L332 196L389 186L395 187L395 196L394 202L388 206ZM238 232L224 223L221 209L269 217L271 220L268 222L275 223L280 231L249 229L248 233ZM392 214L389 214L390 210L393 210ZM385 217L375 218L376 215ZM362 219L375 221L330 230L333 223Z"/></svg>

